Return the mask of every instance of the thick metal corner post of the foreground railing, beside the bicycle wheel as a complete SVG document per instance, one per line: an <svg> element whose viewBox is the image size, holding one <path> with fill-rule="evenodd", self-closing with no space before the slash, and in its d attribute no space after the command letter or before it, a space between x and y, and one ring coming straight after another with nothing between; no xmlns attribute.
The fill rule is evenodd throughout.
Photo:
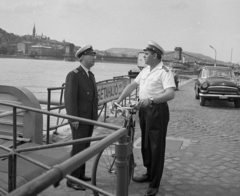
<svg viewBox="0 0 240 196"><path fill-rule="evenodd" d="M127 196L128 195L128 143L127 137L124 135L119 139L119 143L116 144L116 196Z"/></svg>

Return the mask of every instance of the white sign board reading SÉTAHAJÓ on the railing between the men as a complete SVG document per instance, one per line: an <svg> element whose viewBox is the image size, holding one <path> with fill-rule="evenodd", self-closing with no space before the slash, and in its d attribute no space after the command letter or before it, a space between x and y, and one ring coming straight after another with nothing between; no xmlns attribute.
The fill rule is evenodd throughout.
<svg viewBox="0 0 240 196"><path fill-rule="evenodd" d="M97 84L99 99L98 105L102 105L112 100L116 100L129 83L129 79L124 78L121 80Z"/></svg>

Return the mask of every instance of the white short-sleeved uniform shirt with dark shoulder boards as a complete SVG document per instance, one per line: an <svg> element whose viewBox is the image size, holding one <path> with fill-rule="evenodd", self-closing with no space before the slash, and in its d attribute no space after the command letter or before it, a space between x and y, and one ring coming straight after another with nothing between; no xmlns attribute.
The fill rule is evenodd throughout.
<svg viewBox="0 0 240 196"><path fill-rule="evenodd" d="M139 98L158 96L167 88L175 88L173 73L160 62L152 71L145 67L134 80L139 85Z"/></svg>

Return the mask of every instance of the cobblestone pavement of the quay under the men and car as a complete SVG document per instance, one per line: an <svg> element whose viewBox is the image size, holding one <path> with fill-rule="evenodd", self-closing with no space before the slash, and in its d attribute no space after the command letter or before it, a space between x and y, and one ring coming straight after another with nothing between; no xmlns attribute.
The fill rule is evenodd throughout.
<svg viewBox="0 0 240 196"><path fill-rule="evenodd" d="M233 103L220 101L207 102L202 107L195 99L193 87L193 80L180 86L175 99L169 102L167 136L182 140L185 145L179 150L167 150L157 195L239 196L240 109L234 108ZM136 137L140 137L139 126L136 131ZM188 141L187 145L185 141ZM144 168L140 153L135 159L135 174L141 175ZM53 195L92 195L90 190L82 192L67 188L65 181ZM131 182L129 195L142 196L147 187L147 183ZM48 191L45 191L46 195ZM45 195L44 192L41 195Z"/></svg>

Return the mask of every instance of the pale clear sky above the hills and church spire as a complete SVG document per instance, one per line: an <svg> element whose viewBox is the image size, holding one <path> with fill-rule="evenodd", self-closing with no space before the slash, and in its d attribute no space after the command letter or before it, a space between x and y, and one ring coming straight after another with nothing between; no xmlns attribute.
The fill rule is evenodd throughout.
<svg viewBox="0 0 240 196"><path fill-rule="evenodd" d="M76 46L144 49L154 40L240 64L240 0L0 0L0 28L31 35L34 24Z"/></svg>

